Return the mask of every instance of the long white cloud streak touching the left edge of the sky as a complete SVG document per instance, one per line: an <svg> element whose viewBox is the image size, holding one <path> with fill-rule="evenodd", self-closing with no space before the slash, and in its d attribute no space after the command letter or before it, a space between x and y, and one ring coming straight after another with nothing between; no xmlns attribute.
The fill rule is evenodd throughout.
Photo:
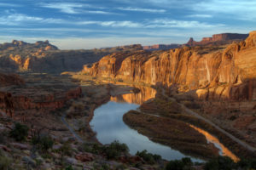
<svg viewBox="0 0 256 170"><path fill-rule="evenodd" d="M64 20L54 18L41 18L35 16L28 16L26 14L9 14L0 17L0 25L4 26L19 26L22 23L62 23Z"/></svg>

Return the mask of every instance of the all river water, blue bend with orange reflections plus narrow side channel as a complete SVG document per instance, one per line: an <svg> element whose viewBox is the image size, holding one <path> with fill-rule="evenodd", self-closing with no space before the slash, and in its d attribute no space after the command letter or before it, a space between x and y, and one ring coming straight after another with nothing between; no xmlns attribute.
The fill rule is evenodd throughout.
<svg viewBox="0 0 256 170"><path fill-rule="evenodd" d="M190 157L192 161L199 161L192 156L185 156L178 150L173 150L171 147L158 144L143 134L137 133L136 130L128 127L125 122L123 122L123 115L130 110L137 110L139 105L148 99L154 98L155 90L153 88L143 88L140 87L141 92L139 94L123 94L116 97L112 97L107 104L101 105L94 111L93 119L90 122L90 126L94 132L96 132L96 138L102 144L110 144L114 140L118 140L120 143L125 143L129 147L130 153L135 155L137 150L148 150L149 153L158 154L166 160L181 159L183 157ZM200 128L196 128L198 132L204 134L208 142L213 143L218 147L219 154L223 156L229 156L232 154L228 150L228 154L224 151L227 150L223 144L220 144L218 139L207 133L206 131L201 131ZM206 135L207 133L207 135ZM215 140L212 140L215 139ZM230 156L232 159L235 157Z"/></svg>

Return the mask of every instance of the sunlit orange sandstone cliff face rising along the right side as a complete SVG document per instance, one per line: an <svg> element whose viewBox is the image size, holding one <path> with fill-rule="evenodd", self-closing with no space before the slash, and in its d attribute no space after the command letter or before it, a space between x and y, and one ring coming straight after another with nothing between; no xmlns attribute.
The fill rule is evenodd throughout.
<svg viewBox="0 0 256 170"><path fill-rule="evenodd" d="M255 99L256 31L227 48L176 48L164 52L111 54L84 66L94 77L197 90L200 98ZM215 96L213 96L214 94Z"/></svg>

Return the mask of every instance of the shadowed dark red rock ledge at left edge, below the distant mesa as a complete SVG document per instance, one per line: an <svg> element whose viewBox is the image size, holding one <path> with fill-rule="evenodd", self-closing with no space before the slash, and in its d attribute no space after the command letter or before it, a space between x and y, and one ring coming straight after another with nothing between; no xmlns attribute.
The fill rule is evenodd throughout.
<svg viewBox="0 0 256 170"><path fill-rule="evenodd" d="M35 76L38 77L38 76ZM17 112L55 111L62 108L69 99L82 95L82 89L55 77L32 77L26 81L15 74L0 73L0 114L16 116Z"/></svg>

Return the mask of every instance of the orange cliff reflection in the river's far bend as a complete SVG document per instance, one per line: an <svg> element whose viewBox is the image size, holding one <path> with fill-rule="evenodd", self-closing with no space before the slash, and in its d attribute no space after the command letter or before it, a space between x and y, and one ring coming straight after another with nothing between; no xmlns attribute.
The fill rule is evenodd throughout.
<svg viewBox="0 0 256 170"><path fill-rule="evenodd" d="M154 98L156 94L156 90L154 88L143 87L143 86L136 86L141 91L137 94L122 94L115 97L111 97L111 101L115 102L127 102L131 104L142 105L143 102L147 101L148 99Z"/></svg>

